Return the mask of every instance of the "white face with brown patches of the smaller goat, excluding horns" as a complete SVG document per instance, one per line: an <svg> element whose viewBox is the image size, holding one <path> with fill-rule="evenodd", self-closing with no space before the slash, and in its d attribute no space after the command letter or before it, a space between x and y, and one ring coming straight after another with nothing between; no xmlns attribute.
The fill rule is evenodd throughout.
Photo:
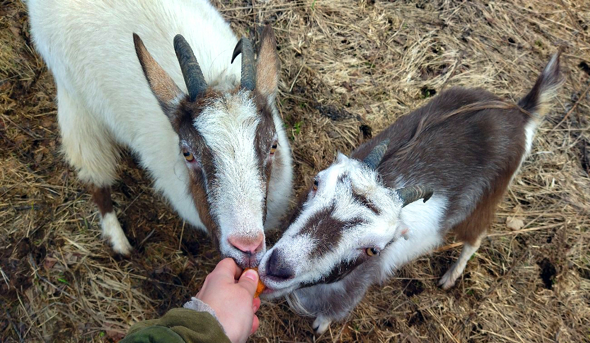
<svg viewBox="0 0 590 343"><path fill-rule="evenodd" d="M362 161L338 154L314 179L299 215L261 260L258 272L275 298L339 281L404 234L400 193Z"/></svg>

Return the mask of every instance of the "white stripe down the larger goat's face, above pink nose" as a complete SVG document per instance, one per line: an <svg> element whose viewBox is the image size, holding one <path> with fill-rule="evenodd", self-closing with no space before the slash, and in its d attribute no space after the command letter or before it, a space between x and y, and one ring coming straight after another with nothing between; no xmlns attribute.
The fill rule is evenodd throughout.
<svg viewBox="0 0 590 343"><path fill-rule="evenodd" d="M225 93L194 120L214 159L215 187L207 196L221 230L222 251L228 236L255 238L263 230L263 175L254 145L261 118L250 94Z"/></svg>

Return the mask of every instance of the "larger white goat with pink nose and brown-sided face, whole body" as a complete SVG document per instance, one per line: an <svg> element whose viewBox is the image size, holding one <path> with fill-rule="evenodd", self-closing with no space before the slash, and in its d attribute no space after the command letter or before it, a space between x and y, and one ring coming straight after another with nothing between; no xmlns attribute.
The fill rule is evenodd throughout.
<svg viewBox="0 0 590 343"><path fill-rule="evenodd" d="M222 255L256 266L292 180L270 26L255 62L251 42L204 0L30 0L28 11L57 84L65 157L93 189L114 251L131 250L110 196L120 144Z"/></svg>

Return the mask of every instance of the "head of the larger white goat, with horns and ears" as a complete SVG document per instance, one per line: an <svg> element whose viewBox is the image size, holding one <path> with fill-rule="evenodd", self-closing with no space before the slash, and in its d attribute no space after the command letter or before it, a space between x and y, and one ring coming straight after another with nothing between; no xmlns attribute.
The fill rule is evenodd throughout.
<svg viewBox="0 0 590 343"><path fill-rule="evenodd" d="M222 255L242 268L257 266L266 251L263 225L273 161L289 153L277 140L278 57L272 30L263 31L256 76L250 42L242 38L238 43L234 58L242 53L241 86L228 92L207 86L182 36L174 45L188 94L137 35L134 40L152 93L178 133L179 159L189 170L188 190L201 222L217 239Z"/></svg>

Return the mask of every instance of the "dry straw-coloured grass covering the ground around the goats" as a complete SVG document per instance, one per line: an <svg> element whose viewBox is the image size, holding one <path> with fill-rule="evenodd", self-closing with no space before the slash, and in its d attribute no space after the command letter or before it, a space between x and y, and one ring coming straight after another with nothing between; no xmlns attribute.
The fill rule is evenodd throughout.
<svg viewBox="0 0 590 343"><path fill-rule="evenodd" d="M128 155L114 200L136 253L112 255L89 195L58 153L55 87L32 52L24 7L0 4L0 341L116 341L194 294L218 255ZM299 190L336 149L357 144L359 128L378 132L451 85L517 99L556 47L567 47L567 82L454 289L435 286L458 256L450 245L374 287L319 338L310 319L263 304L251 341L590 341L589 2L216 4L241 34L257 37L253 23L276 29ZM508 229L514 217L525 226Z"/></svg>

